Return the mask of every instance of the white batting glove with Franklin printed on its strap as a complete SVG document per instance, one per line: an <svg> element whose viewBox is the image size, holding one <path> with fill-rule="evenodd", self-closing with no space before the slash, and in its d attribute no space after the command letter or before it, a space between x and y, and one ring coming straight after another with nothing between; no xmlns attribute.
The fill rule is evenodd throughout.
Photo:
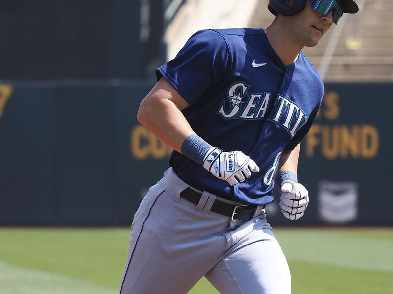
<svg viewBox="0 0 393 294"><path fill-rule="evenodd" d="M203 158L203 167L215 177L227 181L231 186L243 182L251 172L259 172L259 167L241 151L223 152L210 148Z"/></svg>

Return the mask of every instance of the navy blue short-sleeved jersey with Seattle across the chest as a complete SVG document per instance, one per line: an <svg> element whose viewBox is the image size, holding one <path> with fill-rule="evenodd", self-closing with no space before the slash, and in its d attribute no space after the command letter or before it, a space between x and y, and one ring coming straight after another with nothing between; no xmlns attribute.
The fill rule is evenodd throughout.
<svg viewBox="0 0 393 294"><path fill-rule="evenodd" d="M285 66L262 29L201 30L177 56L156 70L187 100L183 114L206 142L240 150L259 166L230 186L174 151L170 165L190 186L235 201L273 201L281 152L309 131L323 97L323 83L302 52Z"/></svg>

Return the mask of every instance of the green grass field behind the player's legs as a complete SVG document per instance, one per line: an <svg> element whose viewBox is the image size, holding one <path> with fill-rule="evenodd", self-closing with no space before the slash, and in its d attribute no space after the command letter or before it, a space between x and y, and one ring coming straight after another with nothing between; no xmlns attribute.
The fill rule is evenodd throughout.
<svg viewBox="0 0 393 294"><path fill-rule="evenodd" d="M293 294L392 294L392 229L276 229ZM0 229L1 294L116 294L128 229ZM202 279L191 294L218 293Z"/></svg>

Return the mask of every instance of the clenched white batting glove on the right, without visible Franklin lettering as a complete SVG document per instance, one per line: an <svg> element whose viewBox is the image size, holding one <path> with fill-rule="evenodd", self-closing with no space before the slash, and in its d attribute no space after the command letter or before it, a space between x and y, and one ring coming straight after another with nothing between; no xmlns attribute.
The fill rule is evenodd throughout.
<svg viewBox="0 0 393 294"><path fill-rule="evenodd" d="M289 220L298 220L309 204L309 192L297 182L286 180L281 183L280 207Z"/></svg>

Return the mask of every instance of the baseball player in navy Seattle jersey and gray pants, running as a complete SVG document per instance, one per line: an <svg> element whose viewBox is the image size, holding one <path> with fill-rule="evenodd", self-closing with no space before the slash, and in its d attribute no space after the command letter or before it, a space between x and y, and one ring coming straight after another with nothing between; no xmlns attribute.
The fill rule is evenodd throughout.
<svg viewBox="0 0 393 294"><path fill-rule="evenodd" d="M291 293L264 208L274 185L290 220L309 202L299 144L324 87L301 49L358 6L270 0L268 9L266 29L198 31L156 70L138 120L174 151L134 215L120 294L187 293L202 276L225 294Z"/></svg>

